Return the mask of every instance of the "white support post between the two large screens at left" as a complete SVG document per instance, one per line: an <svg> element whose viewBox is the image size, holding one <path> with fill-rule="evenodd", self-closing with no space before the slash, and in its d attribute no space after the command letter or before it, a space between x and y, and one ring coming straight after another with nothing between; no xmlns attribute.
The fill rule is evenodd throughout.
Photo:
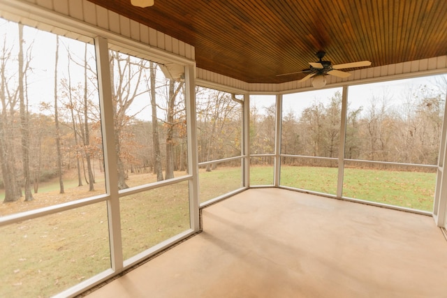
<svg viewBox="0 0 447 298"><path fill-rule="evenodd" d="M95 38L96 68L98 69L99 105L101 108L101 129L103 132L105 188L110 195L107 201L110 237L110 257L115 272L123 269L121 219L119 215L117 153L115 149L115 128L113 124L112 84L108 41Z"/></svg>

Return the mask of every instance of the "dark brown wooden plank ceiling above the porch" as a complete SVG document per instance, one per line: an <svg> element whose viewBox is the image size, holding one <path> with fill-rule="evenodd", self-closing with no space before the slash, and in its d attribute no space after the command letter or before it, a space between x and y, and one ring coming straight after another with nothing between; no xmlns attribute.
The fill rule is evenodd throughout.
<svg viewBox="0 0 447 298"><path fill-rule="evenodd" d="M304 77L277 75L309 68L318 50L332 64L372 66L447 54L446 0L89 1L193 45L199 68L249 83Z"/></svg>

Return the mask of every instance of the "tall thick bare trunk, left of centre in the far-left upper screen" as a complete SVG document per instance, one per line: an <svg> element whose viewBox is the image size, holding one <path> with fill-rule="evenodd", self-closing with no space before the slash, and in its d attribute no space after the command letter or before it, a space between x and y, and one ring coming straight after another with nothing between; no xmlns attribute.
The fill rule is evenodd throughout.
<svg viewBox="0 0 447 298"><path fill-rule="evenodd" d="M20 98L20 125L22 131L22 165L24 177L25 201L34 200L31 193L31 175L29 173L29 125L28 109L24 99L24 54L23 54L23 25L19 24L19 98Z"/></svg>

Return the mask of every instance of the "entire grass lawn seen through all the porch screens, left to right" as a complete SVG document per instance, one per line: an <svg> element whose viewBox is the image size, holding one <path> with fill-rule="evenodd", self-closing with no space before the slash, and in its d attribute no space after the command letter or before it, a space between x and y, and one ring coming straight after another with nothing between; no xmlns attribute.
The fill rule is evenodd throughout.
<svg viewBox="0 0 447 298"><path fill-rule="evenodd" d="M271 185L272 166L254 166L251 185ZM281 185L335 194L337 168L281 167ZM436 174L346 168L345 197L432 211ZM184 173L177 173L179 177ZM200 200L210 200L241 186L240 167L199 171ZM130 186L156 181L152 174L131 174ZM32 202L0 204L0 216L104 193L104 182L77 187L66 181L42 184ZM188 182L120 199L124 259L189 228ZM48 297L110 268L105 202L0 228L0 297ZM5 258L7 256L7 258Z"/></svg>

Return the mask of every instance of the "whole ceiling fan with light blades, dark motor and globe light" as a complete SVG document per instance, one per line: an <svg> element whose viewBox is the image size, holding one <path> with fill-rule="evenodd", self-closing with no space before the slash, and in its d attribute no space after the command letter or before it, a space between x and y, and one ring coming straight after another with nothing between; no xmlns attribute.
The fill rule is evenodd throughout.
<svg viewBox="0 0 447 298"><path fill-rule="evenodd" d="M326 75L334 75L335 77L349 77L351 73L346 73L342 70L342 68L356 68L362 66L370 66L370 61L357 61L345 64L336 64L332 65L330 61L324 61L323 57L325 56L325 52L318 51L316 52L316 57L318 57L319 61L317 62L309 62L310 68L307 70L302 70L297 73L308 73L298 82L305 82L312 77L312 86L316 88L324 87L326 84ZM292 75L295 73L286 73L284 75Z"/></svg>

